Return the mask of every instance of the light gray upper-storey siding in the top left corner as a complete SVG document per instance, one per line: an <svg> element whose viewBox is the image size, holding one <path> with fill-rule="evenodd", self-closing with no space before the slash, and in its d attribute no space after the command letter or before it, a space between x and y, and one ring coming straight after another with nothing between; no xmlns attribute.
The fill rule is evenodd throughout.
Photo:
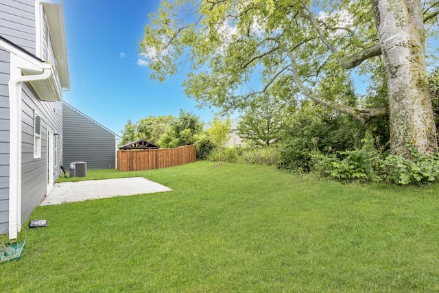
<svg viewBox="0 0 439 293"><path fill-rule="evenodd" d="M35 54L35 0L1 0L0 34Z"/></svg>

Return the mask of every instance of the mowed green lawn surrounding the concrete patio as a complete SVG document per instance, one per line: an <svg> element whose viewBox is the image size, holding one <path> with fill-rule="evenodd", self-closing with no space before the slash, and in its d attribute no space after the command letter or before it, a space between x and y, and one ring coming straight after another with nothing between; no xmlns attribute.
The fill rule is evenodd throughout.
<svg viewBox="0 0 439 293"><path fill-rule="evenodd" d="M341 185L274 167L148 172L173 191L38 207L3 292L438 292L439 186Z"/></svg>

